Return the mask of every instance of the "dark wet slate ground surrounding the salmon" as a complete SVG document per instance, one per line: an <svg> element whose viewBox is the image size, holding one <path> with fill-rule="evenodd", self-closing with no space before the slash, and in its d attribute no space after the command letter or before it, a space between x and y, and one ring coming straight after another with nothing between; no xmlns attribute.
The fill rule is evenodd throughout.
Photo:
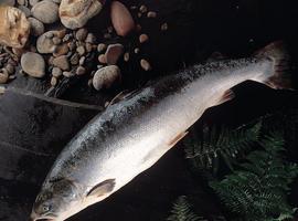
<svg viewBox="0 0 298 221"><path fill-rule="evenodd" d="M155 70L145 73L138 66L124 65L123 88L95 93L82 81L60 95L73 102L103 105L118 91L142 85L147 80L171 73L183 65L206 59L213 51L227 56L246 56L275 40L289 44L294 65L298 64L298 7L295 1L278 0L155 0L147 2L160 11L157 23L169 22L161 34L157 23L142 21L151 36L142 56L149 56ZM95 31L104 23L104 11L91 24ZM132 38L132 36L131 36ZM135 57L138 60L139 57ZM292 71L297 77L297 70ZM25 77L14 87L44 93L49 85ZM236 98L212 108L203 122L237 126L277 109L298 107L298 93L276 92L246 82L237 86ZM44 101L19 92L0 96L0 220L25 221L49 168L64 145L99 110ZM297 150L292 150L297 157ZM220 214L213 196L191 172L178 145L151 169L138 176L114 196L70 219L73 221L161 221L171 203L181 194L198 196L199 212ZM292 197L294 203L298 204Z"/></svg>

